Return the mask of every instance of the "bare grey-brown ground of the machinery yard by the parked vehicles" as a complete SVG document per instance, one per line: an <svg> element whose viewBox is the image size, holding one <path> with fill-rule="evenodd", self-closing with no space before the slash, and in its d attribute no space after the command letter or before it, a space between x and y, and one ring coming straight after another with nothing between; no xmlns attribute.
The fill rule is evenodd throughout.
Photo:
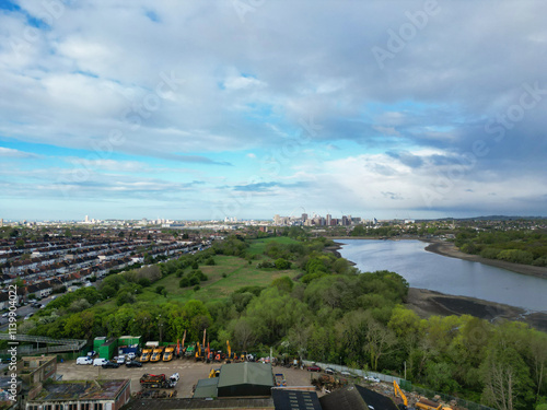
<svg viewBox="0 0 547 410"><path fill-rule="evenodd" d="M171 362L144 363L142 367L120 366L119 368L103 368L93 365L77 365L75 361L57 364L57 374L63 380L83 380L93 378L129 378L131 391L140 391L140 377L144 373L165 374L166 377L178 372L181 379L175 386L177 397L191 397L193 387L200 378L209 377L211 368L219 368L221 363L203 363L194 360L173 360ZM282 373L288 386L311 386L311 373L299 368L274 366L274 373ZM168 390L171 391L171 390Z"/></svg>

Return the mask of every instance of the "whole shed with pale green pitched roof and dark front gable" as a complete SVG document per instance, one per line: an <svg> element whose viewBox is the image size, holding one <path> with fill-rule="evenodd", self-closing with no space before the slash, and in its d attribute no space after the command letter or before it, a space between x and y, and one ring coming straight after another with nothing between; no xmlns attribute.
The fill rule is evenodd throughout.
<svg viewBox="0 0 547 410"><path fill-rule="evenodd" d="M220 370L219 397L271 396L276 385L269 363L232 363Z"/></svg>

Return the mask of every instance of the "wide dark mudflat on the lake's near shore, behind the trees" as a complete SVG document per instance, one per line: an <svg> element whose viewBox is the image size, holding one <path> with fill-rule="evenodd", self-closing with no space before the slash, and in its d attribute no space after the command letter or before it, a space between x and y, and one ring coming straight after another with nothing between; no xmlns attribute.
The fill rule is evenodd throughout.
<svg viewBox="0 0 547 410"><path fill-rule="evenodd" d="M453 296L427 289L410 288L406 307L421 318L431 316L472 315L490 323L499 320L522 321L547 332L547 314L532 313L520 307L482 301L475 297Z"/></svg>

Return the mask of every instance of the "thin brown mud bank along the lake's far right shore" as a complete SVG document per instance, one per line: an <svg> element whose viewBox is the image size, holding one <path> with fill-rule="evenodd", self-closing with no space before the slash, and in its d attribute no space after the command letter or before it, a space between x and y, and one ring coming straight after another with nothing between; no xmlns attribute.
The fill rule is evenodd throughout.
<svg viewBox="0 0 547 410"><path fill-rule="evenodd" d="M532 277L537 277L542 279L547 279L547 268L537 267L532 265L521 265L507 262L504 260L488 259L482 258L478 255L469 255L461 251L452 242L441 241L441 239L419 239L429 243L426 246L426 250L433 254L446 256L449 258L464 259L472 262L479 262L489 266L493 266L501 269L507 269L515 273L528 274Z"/></svg>

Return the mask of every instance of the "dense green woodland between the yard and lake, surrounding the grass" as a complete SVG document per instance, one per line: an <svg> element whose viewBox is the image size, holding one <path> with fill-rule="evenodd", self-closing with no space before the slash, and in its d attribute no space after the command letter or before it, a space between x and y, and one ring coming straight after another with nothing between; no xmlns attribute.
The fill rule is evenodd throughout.
<svg viewBox="0 0 547 410"><path fill-rule="evenodd" d="M401 276L360 272L324 251L328 245L325 238L274 238L257 254L248 241L231 236L207 251L107 277L98 289L58 297L21 331L67 338L140 335L176 342L185 330L187 341L198 341L207 329L214 350L230 340L236 351L267 355L272 347L286 358L398 376L406 362L412 383L496 408L531 409L547 401L546 333L467 315L420 318L405 307L408 283ZM184 278L214 263L216 255L272 263L268 269L282 259L291 274L213 301L139 300L139 292L153 289L156 280Z"/></svg>

